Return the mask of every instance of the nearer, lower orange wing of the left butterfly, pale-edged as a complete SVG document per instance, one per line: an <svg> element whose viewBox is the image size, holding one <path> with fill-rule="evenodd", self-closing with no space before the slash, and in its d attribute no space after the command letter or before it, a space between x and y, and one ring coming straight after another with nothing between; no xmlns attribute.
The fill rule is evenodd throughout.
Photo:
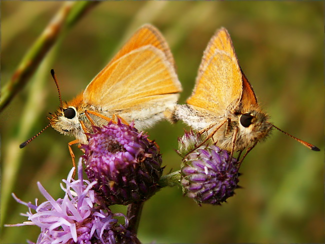
<svg viewBox="0 0 325 244"><path fill-rule="evenodd" d="M99 82L101 80L101 82ZM92 90L97 92L92 92ZM138 99L173 94L181 90L177 76L164 54L153 46L142 46L121 56L105 67L101 77L91 81L85 102L105 110L139 106Z"/></svg>

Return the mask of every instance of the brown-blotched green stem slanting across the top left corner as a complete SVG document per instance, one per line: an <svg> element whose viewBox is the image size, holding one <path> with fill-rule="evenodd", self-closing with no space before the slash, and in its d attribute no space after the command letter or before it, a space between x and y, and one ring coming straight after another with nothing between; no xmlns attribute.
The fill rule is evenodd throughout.
<svg viewBox="0 0 325 244"><path fill-rule="evenodd" d="M98 1L67 1L57 11L34 44L20 61L10 80L1 89L0 112L24 87L59 35L73 26Z"/></svg>

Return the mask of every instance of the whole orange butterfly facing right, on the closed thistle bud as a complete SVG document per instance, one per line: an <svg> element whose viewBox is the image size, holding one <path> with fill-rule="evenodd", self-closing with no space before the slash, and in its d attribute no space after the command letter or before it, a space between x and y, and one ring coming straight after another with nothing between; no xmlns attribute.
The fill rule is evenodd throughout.
<svg viewBox="0 0 325 244"><path fill-rule="evenodd" d="M241 70L230 36L220 28L210 39L199 66L195 87L185 105L177 105L174 118L207 132L222 149L245 155L274 127L257 103L255 93ZM295 140L312 150L316 146ZM239 157L239 156L238 156ZM241 160L242 160L241 159Z"/></svg>

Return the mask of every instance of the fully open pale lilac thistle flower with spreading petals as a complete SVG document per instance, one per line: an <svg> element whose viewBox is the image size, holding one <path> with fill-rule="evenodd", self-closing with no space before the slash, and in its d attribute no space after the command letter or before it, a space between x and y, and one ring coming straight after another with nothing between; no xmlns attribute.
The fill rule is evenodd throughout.
<svg viewBox="0 0 325 244"><path fill-rule="evenodd" d="M78 179L73 179L74 168L69 172L67 179L62 181L66 184L64 197L55 200L44 187L37 182L40 192L47 201L37 205L15 200L26 205L29 210L26 214L29 221L20 224L7 224L6 226L37 225L41 228L38 236L39 244L49 243L140 243L135 234L127 230L128 220L122 213L112 213L109 209L100 209L95 202L94 191L90 188L96 183L82 179L82 163L78 164ZM32 212L35 210L35 213ZM116 216L123 216L125 224L119 224ZM29 243L33 243L29 241Z"/></svg>

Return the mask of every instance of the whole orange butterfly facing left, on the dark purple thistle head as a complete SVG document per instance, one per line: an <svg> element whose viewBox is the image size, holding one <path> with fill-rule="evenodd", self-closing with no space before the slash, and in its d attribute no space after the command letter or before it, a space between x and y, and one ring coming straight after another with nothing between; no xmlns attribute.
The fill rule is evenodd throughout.
<svg viewBox="0 0 325 244"><path fill-rule="evenodd" d="M51 73L56 82L52 70ZM134 121L139 130L163 117L169 119L180 91L181 84L167 42L154 26L145 24L83 92L68 102L62 103L60 99L60 107L51 114L49 124L58 132L76 138L69 142L73 155L71 144L86 144L84 133L92 132L91 125L106 124L115 115L127 123Z"/></svg>

